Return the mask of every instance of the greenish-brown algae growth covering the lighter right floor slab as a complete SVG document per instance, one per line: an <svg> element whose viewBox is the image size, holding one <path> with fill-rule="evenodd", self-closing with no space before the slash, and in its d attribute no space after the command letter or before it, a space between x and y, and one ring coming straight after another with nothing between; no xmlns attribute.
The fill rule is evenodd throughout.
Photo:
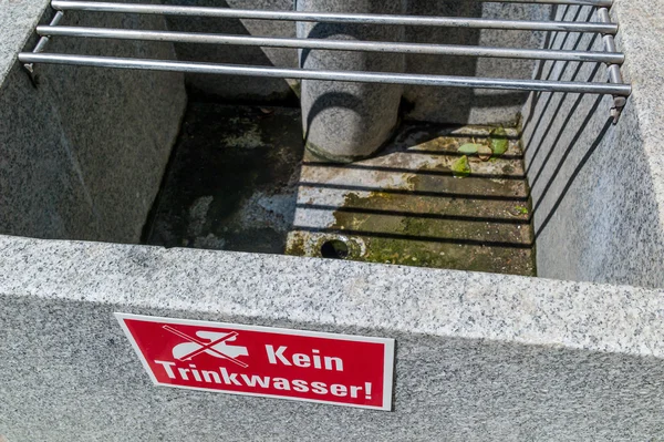
<svg viewBox="0 0 664 442"><path fill-rule="evenodd" d="M507 131L501 130L505 134L496 130L494 138L509 147ZM492 155L490 133L490 129L481 129L450 136L414 135L407 141L408 151L428 155L424 164L394 177L398 183L394 189L347 193L333 212L331 225L320 233L298 232L289 237L290 253L321 256L322 244L341 239L362 244L350 248L350 260L533 276L528 214L515 212L516 205L529 207L520 201L527 188L520 179L496 177L520 173L520 167L513 164L517 160ZM481 146L485 157L477 157L480 147L477 153L459 152L465 144ZM459 154L466 156L471 179L453 177L453 162ZM499 164L480 162L489 157ZM408 167L407 162L397 160L395 164L402 169ZM502 220L487 222L491 218Z"/></svg>

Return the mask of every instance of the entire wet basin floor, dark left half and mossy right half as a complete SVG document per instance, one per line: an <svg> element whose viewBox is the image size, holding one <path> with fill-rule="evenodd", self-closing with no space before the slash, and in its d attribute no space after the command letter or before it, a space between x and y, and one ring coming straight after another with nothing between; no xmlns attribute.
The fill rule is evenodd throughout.
<svg viewBox="0 0 664 442"><path fill-rule="evenodd" d="M518 133L404 124L378 156L349 165L303 152L295 109L190 103L146 241L383 264L535 275ZM486 158L485 158L486 160Z"/></svg>

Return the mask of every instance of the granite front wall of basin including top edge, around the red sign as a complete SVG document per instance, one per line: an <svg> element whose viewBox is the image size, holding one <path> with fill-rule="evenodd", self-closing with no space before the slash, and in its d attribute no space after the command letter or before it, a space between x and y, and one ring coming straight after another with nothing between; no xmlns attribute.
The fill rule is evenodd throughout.
<svg viewBox="0 0 664 442"><path fill-rule="evenodd" d="M0 434L33 441L664 438L664 292L0 238ZM114 311L397 340L393 412L154 387Z"/></svg>

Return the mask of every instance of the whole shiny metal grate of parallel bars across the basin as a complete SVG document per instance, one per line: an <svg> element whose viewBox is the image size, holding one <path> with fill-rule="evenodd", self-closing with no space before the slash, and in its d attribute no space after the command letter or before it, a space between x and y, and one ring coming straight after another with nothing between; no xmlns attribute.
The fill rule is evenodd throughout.
<svg viewBox="0 0 664 442"><path fill-rule="evenodd" d="M479 0L488 1L488 0ZM494 0L498 1L498 0ZM596 9L596 22L574 21L525 21L490 20L453 17L385 16L357 13L322 13L297 11L263 11L229 8L204 8L165 4L132 4L96 1L53 0L51 6L56 14L49 25L40 25L41 35L33 52L22 52L19 60L32 72L33 63L72 64L97 68L195 72L224 75L267 76L297 80L325 80L365 83L392 83L428 86L480 88L519 91L571 92L610 94L614 96L612 110L615 121L631 94L632 88L622 79L620 65L624 54L615 45L618 23L609 16L612 0L500 0L504 3L542 3L592 6ZM604 51L535 50L511 48L486 48L474 45L424 44L401 42L291 39L272 37L246 37L212 33L169 32L151 30L106 29L60 25L65 11L139 13L184 17L207 17L225 19L279 20L294 22L326 22L354 24L398 24L409 27L474 28L523 31L563 31L599 33L604 38ZM185 42L201 44L226 44L245 47L323 49L339 51L367 51L384 53L415 53L434 55L486 56L504 59L530 59L553 61L602 62L608 64L609 82L566 82L542 80L512 80L452 75L424 75L385 72L324 71L305 69L283 69L272 66L181 62L168 60L131 59L113 56L91 56L77 54L44 53L52 37L77 37L94 39L144 40Z"/></svg>

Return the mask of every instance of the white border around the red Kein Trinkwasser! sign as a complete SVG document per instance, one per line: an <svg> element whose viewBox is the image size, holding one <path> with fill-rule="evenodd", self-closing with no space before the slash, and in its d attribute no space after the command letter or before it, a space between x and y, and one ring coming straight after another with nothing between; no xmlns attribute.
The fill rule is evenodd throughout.
<svg viewBox="0 0 664 442"><path fill-rule="evenodd" d="M236 395L250 395L258 398L274 398L274 399L287 399L290 401L299 401L299 402L313 402L313 403L324 403L328 405L341 405L341 407L352 407L352 408L361 408L361 409L370 409L370 410L381 410L381 411L392 411L392 387L394 382L394 347L395 341L391 338L376 338L376 337L364 337L364 336L354 336L354 335L341 335L341 333L328 333L322 331L309 331L309 330L297 330L297 329L287 329L287 328L276 328L276 327L263 327L263 326L247 326L241 323L229 323L229 322L215 322L215 321L204 321L204 320L195 320L195 319L174 319L174 318L162 318L156 316L144 316L144 315L132 315L132 313L113 313L120 326L122 327L125 336L132 343L134 351L138 354L141 359L141 363L143 363L143 368L147 371L149 378L152 379L155 386L163 387L172 387L184 390L197 390L197 391L209 391L215 393L226 393L226 394L236 394ZM226 391L226 390L216 390L216 389L206 389L203 387L185 387L185 386L173 386L169 383L162 383L157 381L157 378L153 373L147 359L141 351L138 343L134 339L134 336L129 331L129 328L125 323L125 319L136 319L145 322L160 322L160 323L173 323L173 325L184 325L184 326L199 326L199 327L219 327L227 328L232 330L249 330L249 331L263 331L270 332L274 335L290 335L290 336L304 336L310 338L322 338L322 339L334 339L334 340L346 340L354 342L373 342L373 343L382 343L384 345L385 356L384 356L384 364L383 364L383 407L373 407L373 405L359 405L353 403L340 403L340 402L331 402L331 401L322 401L317 399L303 399L303 398L293 398L289 395L277 395L277 394L260 394L260 393L247 393L239 391Z"/></svg>

